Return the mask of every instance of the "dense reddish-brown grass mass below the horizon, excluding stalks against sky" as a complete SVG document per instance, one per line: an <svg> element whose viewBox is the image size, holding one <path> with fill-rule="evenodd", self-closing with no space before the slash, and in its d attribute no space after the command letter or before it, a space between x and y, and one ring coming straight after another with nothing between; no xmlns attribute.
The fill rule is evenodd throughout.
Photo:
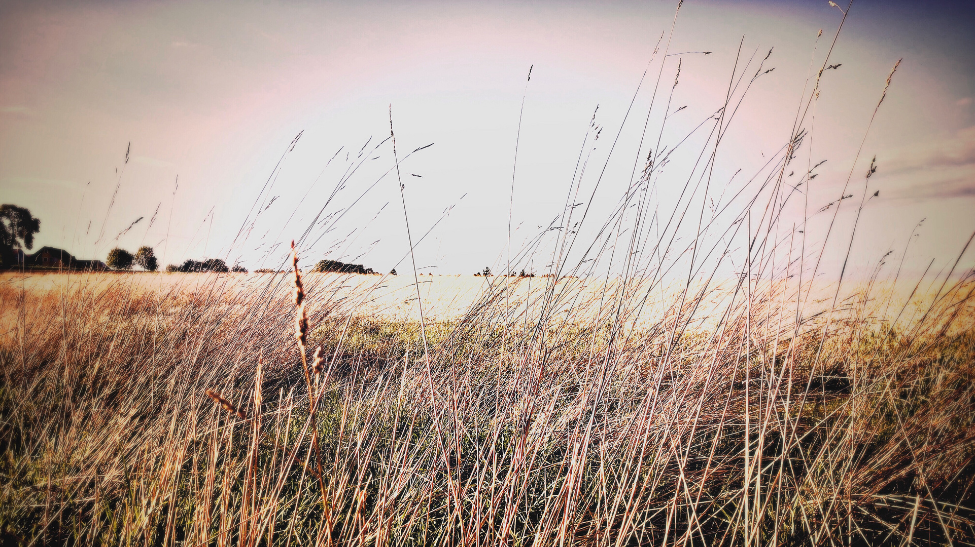
<svg viewBox="0 0 975 547"><path fill-rule="evenodd" d="M694 302L626 331L598 315L547 317L545 329L532 316L526 328L496 299L428 326L428 367L417 322L316 307L328 283L315 277L305 277L319 326L309 346L325 350L307 382L284 283L270 299L221 292L216 275L194 291L133 296L121 277L45 295L8 277L4 306L23 313L0 356L6 537L973 537L970 281L914 331L872 320L878 305L863 293L825 336L825 314L797 325L782 306L789 288L775 283L734 302L725 293L718 328L681 338ZM966 326L942 334L953 317Z"/></svg>

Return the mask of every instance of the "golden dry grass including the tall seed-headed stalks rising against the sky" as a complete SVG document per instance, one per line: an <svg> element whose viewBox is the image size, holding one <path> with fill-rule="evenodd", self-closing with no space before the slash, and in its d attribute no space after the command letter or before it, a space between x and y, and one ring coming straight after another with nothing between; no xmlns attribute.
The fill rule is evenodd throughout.
<svg viewBox="0 0 975 547"><path fill-rule="evenodd" d="M684 179L657 152L602 224L588 218L594 122L559 224L503 269L537 257L554 274L478 279L462 314L364 313L380 286L338 297L348 278L296 267L47 288L7 275L4 540L971 544L973 272L852 281L864 227L839 236L832 221L812 248L810 218L835 221L861 184L851 171L812 213L811 190L790 191L811 186L811 161L786 175L829 55L760 173L702 174L767 59L735 66L671 210L657 183ZM797 200L800 223L783 220ZM832 284L825 245L846 249Z"/></svg>

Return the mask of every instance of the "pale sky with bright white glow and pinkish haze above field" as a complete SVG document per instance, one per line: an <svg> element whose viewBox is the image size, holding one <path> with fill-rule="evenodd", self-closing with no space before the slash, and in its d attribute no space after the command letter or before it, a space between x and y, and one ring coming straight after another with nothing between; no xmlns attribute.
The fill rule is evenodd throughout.
<svg viewBox="0 0 975 547"><path fill-rule="evenodd" d="M303 264L380 272L409 270L406 208L420 272L470 274L544 234L573 184L597 230L653 149L674 155L658 164L651 201L680 208L732 74L749 71L738 97L760 63L774 70L736 103L697 206L768 173L846 2L686 0L675 18L676 9L6 1L0 201L41 219L35 248L79 258L150 245L162 264L277 268L297 239ZM878 197L858 220L855 205L838 217L844 234L857 222L858 264L903 253L909 240L909 268L956 258L975 231L973 23L970 3L853 2L829 54L839 67L824 72L802 118L801 164L826 162L783 224L803 222L804 199L809 210L836 201L847 180L859 200L876 157L868 187ZM385 140L390 113L402 188ZM603 129L599 140L590 128ZM824 239L830 214L809 221L810 241Z"/></svg>

